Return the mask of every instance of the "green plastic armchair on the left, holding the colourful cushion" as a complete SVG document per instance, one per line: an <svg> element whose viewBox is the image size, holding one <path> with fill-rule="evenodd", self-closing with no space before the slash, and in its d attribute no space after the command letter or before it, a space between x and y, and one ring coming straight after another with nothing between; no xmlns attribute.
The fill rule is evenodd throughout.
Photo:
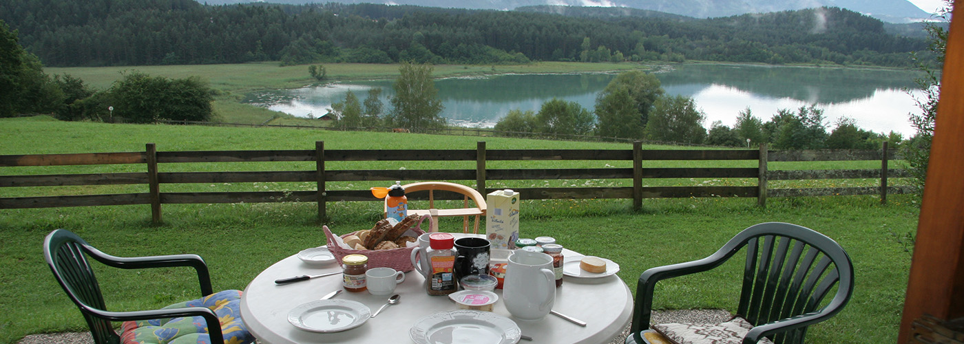
<svg viewBox="0 0 964 344"><path fill-rule="evenodd" d="M66 229L54 230L47 234L43 241L43 257L54 277L64 287L67 296L80 308L80 312L83 313L84 319L91 328L95 343L120 343L120 335L114 331L111 322L201 316L207 323L211 344L224 344L221 322L217 314L209 308L183 307L120 312L106 310L104 298L87 256L107 266L121 269L193 267L201 281L201 297L211 295L213 291L207 265L197 254L117 257L94 249Z"/></svg>

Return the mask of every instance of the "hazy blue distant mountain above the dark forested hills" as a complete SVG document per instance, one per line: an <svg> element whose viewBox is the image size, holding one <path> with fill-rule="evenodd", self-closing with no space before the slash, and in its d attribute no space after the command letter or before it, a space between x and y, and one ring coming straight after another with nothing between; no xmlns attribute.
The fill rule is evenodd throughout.
<svg viewBox="0 0 964 344"><path fill-rule="evenodd" d="M305 5L318 0L198 0L202 4L225 5L252 2ZM613 8L629 8L673 13L697 18L731 16L745 13L771 13L818 7L839 7L864 13L892 23L908 23L930 18L930 13L907 0L339 0L344 4L375 3L387 5L415 5L423 7L516 10L532 6L586 6L604 3Z"/></svg>

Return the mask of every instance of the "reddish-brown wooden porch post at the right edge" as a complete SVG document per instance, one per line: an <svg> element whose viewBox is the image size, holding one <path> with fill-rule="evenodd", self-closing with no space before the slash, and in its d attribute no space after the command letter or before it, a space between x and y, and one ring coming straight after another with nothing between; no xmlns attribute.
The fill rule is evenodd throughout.
<svg viewBox="0 0 964 344"><path fill-rule="evenodd" d="M964 317L964 0L954 1L934 138L897 343L924 314Z"/></svg>

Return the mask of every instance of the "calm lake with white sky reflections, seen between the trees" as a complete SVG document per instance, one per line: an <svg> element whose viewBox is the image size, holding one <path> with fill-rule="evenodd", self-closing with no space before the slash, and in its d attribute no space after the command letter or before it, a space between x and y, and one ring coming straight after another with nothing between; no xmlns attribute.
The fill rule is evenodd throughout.
<svg viewBox="0 0 964 344"><path fill-rule="evenodd" d="M829 129L841 118L863 129L905 138L915 133L908 114L919 112L913 70L797 66L679 65L654 71L666 93L692 97L707 115L705 127L720 120L733 126L737 114L750 108L769 120L779 109L816 105ZM593 110L596 94L615 77L607 73L508 74L436 80L449 123L492 127L511 110L538 112L553 97L576 101ZM382 88L383 102L393 95L394 80L352 81L295 90L249 94L246 102L298 117L320 117L351 91L363 101L371 88Z"/></svg>

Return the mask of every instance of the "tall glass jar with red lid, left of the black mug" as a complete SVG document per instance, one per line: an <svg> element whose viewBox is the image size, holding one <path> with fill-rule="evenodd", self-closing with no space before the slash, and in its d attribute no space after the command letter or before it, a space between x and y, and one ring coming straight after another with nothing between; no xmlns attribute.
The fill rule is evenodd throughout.
<svg viewBox="0 0 964 344"><path fill-rule="evenodd" d="M428 236L429 248L425 255L429 261L428 280L425 288L428 295L441 296L458 290L455 280L455 237L449 233L432 233Z"/></svg>

